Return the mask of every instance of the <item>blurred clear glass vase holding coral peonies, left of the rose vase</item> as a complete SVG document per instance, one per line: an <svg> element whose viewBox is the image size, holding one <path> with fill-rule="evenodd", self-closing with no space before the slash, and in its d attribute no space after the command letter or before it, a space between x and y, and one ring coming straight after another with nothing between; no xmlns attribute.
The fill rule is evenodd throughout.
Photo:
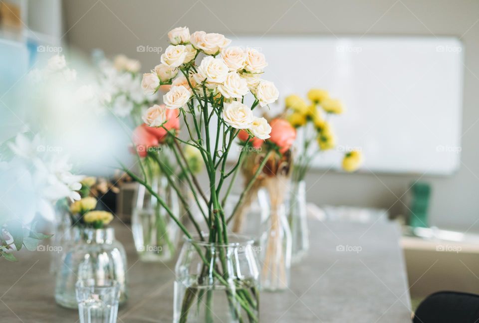
<svg viewBox="0 0 479 323"><path fill-rule="evenodd" d="M181 218L178 195L168 184L168 178L154 178L151 187L163 198L173 214ZM155 196L143 185L138 186L134 198L131 224L135 247L141 261L166 262L175 256L179 228Z"/></svg>

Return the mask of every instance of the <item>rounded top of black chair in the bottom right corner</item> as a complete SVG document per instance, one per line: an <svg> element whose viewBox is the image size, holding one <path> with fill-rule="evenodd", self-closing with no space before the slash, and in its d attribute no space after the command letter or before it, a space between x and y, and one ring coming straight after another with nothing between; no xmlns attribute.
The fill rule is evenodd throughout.
<svg viewBox="0 0 479 323"><path fill-rule="evenodd" d="M434 293L421 302L413 323L479 323L479 295Z"/></svg>

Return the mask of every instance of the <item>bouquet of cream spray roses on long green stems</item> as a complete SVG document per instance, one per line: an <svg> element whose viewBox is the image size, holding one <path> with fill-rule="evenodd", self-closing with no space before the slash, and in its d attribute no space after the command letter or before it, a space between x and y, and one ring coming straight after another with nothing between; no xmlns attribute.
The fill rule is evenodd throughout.
<svg viewBox="0 0 479 323"><path fill-rule="evenodd" d="M174 174L165 172L169 185L178 192L185 212L195 227L196 237L182 224L178 214L170 209L168 203L155 192L147 180L144 167L141 169L141 175L126 166L123 168L156 197L159 205L181 228L200 259L200 274L194 276L195 278L190 277L187 282L179 282L179 287L175 289L175 320L187 322L188 318L203 313L199 309L205 305L205 318L199 320L212 321L212 295L217 294L214 293L215 290L222 290L223 293L226 292L227 301L225 319L233 318L235 322L242 322L242 316L245 315L250 322L257 322L258 295L255 286L247 287L241 275L234 275L236 266L231 266L231 255L224 249L230 244L224 204L235 184L234 180L228 182L228 179L236 177L246 150L241 151L238 162L232 168L227 168L227 161L240 130L247 133L247 139L240 142L242 146L247 145L253 138L269 138L270 125L266 119L255 117L253 109L258 105L266 106L274 102L278 98L278 90L272 82L260 78L260 73L267 63L264 55L255 49L228 47L231 40L224 35L204 31L190 34L186 27L175 28L168 36L171 45L161 55L161 64L151 73L143 75L142 87L145 93L150 94L156 93L161 85L171 84L171 88L163 96L164 105L154 105L143 115L145 125L142 133L156 134L156 137L149 136L147 142L136 142L136 150L140 156L151 157L162 168L162 152L154 149L159 145L158 138L163 145L171 149L176 164L185 174L184 180L198 204L198 210L208 227L208 234L200 229L189 203L180 194ZM199 58L201 60L197 64ZM243 103L249 92L254 97L251 106ZM180 138L177 127L171 127L171 120L175 118L183 119L187 139ZM198 155L205 164L208 183L204 186L200 184L186 160L184 147L188 146L199 152ZM260 163L259 170L266 162L267 158ZM182 255L180 259L183 259ZM184 268L185 266L177 266L177 270ZM256 278L257 275L253 277ZM201 287L205 283L211 287L206 291ZM205 293L206 300L203 300ZM198 311L192 309L195 298ZM221 305L218 303L216 306ZM221 316L220 311L215 311L215 315Z"/></svg>

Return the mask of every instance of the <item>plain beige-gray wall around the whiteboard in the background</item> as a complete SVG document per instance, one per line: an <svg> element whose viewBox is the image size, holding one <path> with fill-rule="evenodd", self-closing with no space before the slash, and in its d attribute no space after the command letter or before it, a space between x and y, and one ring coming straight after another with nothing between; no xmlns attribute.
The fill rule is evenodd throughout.
<svg viewBox="0 0 479 323"><path fill-rule="evenodd" d="M123 52L140 59L145 70L159 63L159 55L137 52L137 46L165 48L166 33L184 25L192 31L232 35L461 37L466 48L461 169L449 177L312 171L307 195L318 204L376 206L390 209L393 215L404 214L407 195L403 193L410 182L421 179L433 186L433 225L479 230L478 1L64 0L64 12L65 37L71 45L86 52L93 48L103 48L109 55Z"/></svg>

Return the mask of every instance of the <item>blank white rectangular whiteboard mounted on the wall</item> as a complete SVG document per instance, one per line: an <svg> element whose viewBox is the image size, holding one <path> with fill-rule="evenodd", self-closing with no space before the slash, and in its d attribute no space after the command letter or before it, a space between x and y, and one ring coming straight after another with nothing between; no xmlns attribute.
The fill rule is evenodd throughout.
<svg viewBox="0 0 479 323"><path fill-rule="evenodd" d="M367 171L444 175L459 168L464 48L458 38L231 39L266 56L262 78L280 93L271 112L281 111L289 94L306 98L310 88L342 100L344 114L329 120L338 146L314 167L338 168L344 150L359 148Z"/></svg>

